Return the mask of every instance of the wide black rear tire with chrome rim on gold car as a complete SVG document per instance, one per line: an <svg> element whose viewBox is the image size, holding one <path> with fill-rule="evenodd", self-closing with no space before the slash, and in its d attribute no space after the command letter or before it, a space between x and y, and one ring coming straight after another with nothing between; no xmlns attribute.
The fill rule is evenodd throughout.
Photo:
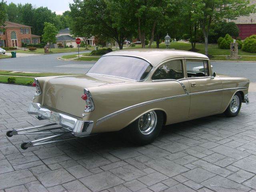
<svg viewBox="0 0 256 192"><path fill-rule="evenodd" d="M163 112L152 110L124 128L124 134L130 142L139 145L149 144L156 139L163 124Z"/></svg>

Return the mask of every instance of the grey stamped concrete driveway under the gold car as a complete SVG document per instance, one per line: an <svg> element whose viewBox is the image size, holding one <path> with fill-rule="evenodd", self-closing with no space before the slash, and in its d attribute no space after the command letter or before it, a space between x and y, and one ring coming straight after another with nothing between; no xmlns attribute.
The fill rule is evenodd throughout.
<svg viewBox="0 0 256 192"><path fill-rule="evenodd" d="M104 134L20 149L5 133L47 123L26 113L34 88L0 84L0 192L255 192L256 92L235 118L209 116L164 128L134 146Z"/></svg>

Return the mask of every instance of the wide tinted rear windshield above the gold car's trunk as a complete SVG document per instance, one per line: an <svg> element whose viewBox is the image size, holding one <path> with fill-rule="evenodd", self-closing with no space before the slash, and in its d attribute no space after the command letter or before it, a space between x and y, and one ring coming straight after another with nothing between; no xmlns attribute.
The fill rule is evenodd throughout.
<svg viewBox="0 0 256 192"><path fill-rule="evenodd" d="M143 59L129 56L101 57L88 71L90 74L116 76L131 80L144 80L152 66Z"/></svg>

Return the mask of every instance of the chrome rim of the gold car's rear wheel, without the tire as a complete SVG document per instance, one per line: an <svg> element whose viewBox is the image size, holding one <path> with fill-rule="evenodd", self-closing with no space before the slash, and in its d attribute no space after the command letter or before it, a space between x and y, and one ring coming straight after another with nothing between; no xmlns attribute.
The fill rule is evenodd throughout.
<svg viewBox="0 0 256 192"><path fill-rule="evenodd" d="M156 112L150 111L139 118L139 130L142 134L148 135L156 128Z"/></svg>

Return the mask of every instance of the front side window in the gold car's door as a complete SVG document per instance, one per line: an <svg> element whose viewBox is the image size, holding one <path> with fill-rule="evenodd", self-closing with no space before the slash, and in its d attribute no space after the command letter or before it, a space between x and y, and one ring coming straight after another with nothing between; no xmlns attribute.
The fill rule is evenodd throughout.
<svg viewBox="0 0 256 192"><path fill-rule="evenodd" d="M186 60L186 68L188 77L210 76L207 60Z"/></svg>

